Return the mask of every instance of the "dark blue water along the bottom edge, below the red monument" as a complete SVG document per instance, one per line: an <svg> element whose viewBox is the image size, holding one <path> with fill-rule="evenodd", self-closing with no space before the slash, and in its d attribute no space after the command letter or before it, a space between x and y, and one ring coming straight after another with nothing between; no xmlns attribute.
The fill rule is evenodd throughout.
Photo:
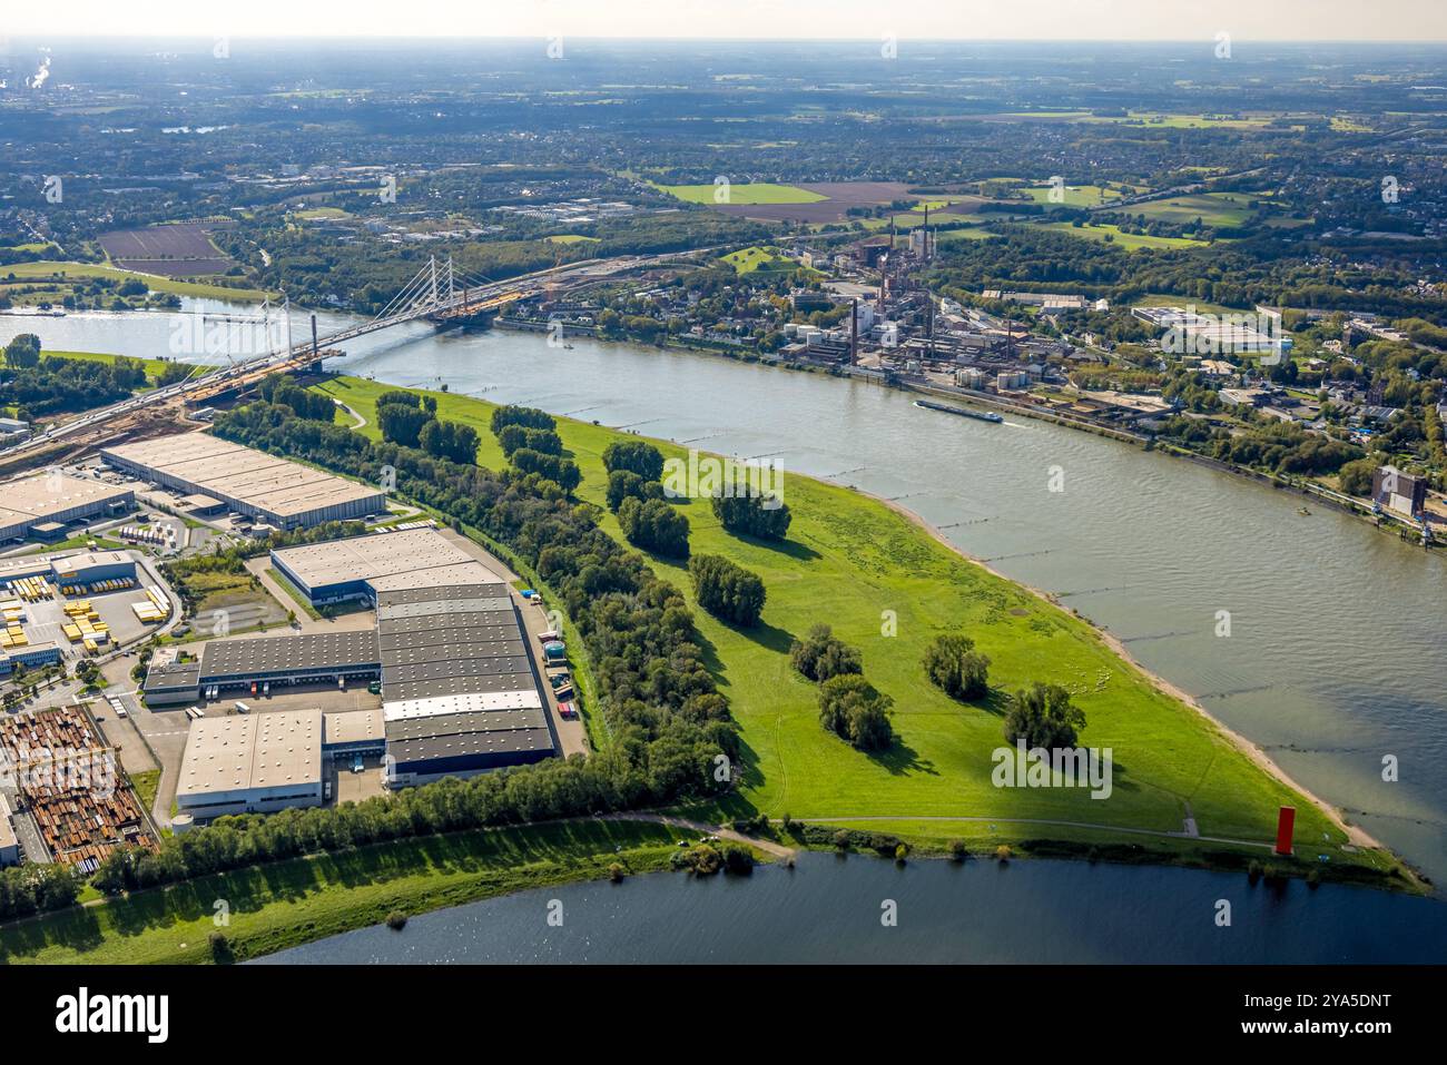
<svg viewBox="0 0 1447 1065"><path fill-rule="evenodd" d="M1223 901L1229 925L1217 923ZM884 923L888 903L894 925ZM803 854L793 870L744 878L657 873L522 891L258 962L1402 964L1441 961L1444 942L1447 906L1369 888L1252 887L1239 874L1064 861L897 867Z"/></svg>

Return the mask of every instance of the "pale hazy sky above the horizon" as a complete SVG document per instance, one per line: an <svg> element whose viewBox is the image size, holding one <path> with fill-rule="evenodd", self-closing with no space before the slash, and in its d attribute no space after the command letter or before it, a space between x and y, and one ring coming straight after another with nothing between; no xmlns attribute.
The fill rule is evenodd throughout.
<svg viewBox="0 0 1447 1065"><path fill-rule="evenodd" d="M1444 0L3 0L0 36L1444 41Z"/></svg>

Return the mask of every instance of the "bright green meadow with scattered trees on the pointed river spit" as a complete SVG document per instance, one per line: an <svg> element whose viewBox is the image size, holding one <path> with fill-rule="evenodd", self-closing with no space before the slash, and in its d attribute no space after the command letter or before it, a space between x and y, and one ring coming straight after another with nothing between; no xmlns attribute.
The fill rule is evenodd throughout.
<svg viewBox="0 0 1447 1065"><path fill-rule="evenodd" d="M318 386L368 417L389 386L339 378ZM492 404L437 395L438 415L482 437L479 463L499 467L488 431ZM559 420L583 472L579 495L602 502L601 462L616 431ZM375 437L373 437L375 438ZM658 441L667 456L682 447ZM1200 831L1269 841L1276 807L1298 809L1297 838L1334 861L1344 836L1314 806L1255 765L1213 724L1162 693L1084 621L935 541L899 512L846 488L786 476L793 512L786 544L741 540L722 530L706 502L680 509L695 553L724 554L758 573L768 589L760 627L737 629L697 611L702 647L742 725L742 797L773 816L845 820L891 816L1039 818L1074 823L1179 831L1189 806ZM621 538L612 515L603 527ZM684 590L683 567L654 567ZM896 635L884 622L896 619ZM861 754L823 732L813 686L789 666L789 645L826 621L864 653L868 679L894 699L896 745ZM978 705L945 697L925 677L920 655L939 632L964 631L990 655L994 692ZM1003 744L1006 693L1032 680L1065 684L1088 716L1081 742L1114 750L1116 789L1107 800L1065 789L996 789L991 751ZM1139 839L1139 838L1137 838Z"/></svg>

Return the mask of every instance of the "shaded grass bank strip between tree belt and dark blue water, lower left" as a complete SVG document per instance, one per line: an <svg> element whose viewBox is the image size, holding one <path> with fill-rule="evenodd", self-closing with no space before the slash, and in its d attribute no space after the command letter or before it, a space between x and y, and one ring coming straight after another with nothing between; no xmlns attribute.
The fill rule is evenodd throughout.
<svg viewBox="0 0 1447 1065"><path fill-rule="evenodd" d="M337 855L143 891L123 903L0 926L0 964L155 964L211 959L216 901L237 961L476 899L666 868L684 835L642 822L577 822L378 844Z"/></svg>

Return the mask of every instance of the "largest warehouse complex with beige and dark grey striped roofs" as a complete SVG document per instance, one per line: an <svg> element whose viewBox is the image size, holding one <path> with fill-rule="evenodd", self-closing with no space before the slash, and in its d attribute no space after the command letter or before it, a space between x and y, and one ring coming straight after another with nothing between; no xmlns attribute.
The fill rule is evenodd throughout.
<svg viewBox="0 0 1447 1065"><path fill-rule="evenodd" d="M194 702L211 689L381 680L375 721L328 715L326 731L336 757L382 747L389 787L534 763L557 750L512 590L436 530L278 548L272 564L311 602L372 601L376 627L214 640L195 661L158 653L142 687L148 705Z"/></svg>

